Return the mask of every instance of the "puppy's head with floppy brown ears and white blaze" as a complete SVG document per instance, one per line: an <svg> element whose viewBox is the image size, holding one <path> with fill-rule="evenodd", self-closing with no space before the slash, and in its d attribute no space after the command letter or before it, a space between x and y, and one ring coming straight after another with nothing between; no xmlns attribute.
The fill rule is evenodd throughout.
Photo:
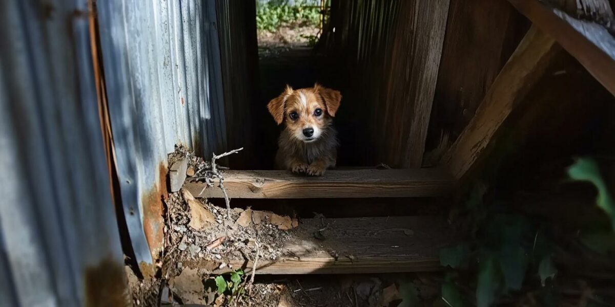
<svg viewBox="0 0 615 307"><path fill-rule="evenodd" d="M300 90L287 86L267 107L278 125L285 123L292 138L309 143L327 134L341 98L339 91L318 84Z"/></svg>

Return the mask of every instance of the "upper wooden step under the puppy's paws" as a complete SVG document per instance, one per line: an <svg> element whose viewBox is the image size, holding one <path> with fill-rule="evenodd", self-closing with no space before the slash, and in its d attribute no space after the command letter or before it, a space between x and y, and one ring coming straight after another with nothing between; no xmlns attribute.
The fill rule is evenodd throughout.
<svg viewBox="0 0 615 307"><path fill-rule="evenodd" d="M322 177L287 171L226 171L224 187L230 198L363 198L445 196L452 177L437 169L331 170ZM186 182L196 197L222 198L217 186Z"/></svg>

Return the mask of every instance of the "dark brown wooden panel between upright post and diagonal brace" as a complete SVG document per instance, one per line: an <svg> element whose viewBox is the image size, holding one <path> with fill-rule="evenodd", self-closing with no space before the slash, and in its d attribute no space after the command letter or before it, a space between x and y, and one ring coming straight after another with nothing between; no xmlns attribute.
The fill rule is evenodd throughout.
<svg viewBox="0 0 615 307"><path fill-rule="evenodd" d="M507 1L450 0L424 165L436 165L466 128L530 25ZM441 137L448 142L434 150Z"/></svg>

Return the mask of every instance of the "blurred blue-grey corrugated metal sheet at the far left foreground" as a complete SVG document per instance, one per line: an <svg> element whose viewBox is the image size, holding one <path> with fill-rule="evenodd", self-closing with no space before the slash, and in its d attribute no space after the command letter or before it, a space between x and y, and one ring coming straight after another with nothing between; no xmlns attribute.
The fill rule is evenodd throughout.
<svg viewBox="0 0 615 307"><path fill-rule="evenodd" d="M121 306L86 3L0 1L2 306Z"/></svg>

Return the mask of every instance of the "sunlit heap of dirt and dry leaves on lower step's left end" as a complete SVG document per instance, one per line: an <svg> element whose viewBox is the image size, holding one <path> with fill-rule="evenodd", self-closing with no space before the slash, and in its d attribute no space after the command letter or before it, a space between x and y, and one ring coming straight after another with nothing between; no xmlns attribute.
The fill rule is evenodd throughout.
<svg viewBox="0 0 615 307"><path fill-rule="evenodd" d="M249 208L234 208L228 212L226 208L194 198L185 189L171 193L166 204L169 222L165 229L169 230L169 246L177 247L173 261L216 263L212 268L228 263L225 260L229 258L253 260L257 246L261 247L261 259L276 260L282 255L284 243L290 239L287 230L298 225L296 219L272 212Z"/></svg>

